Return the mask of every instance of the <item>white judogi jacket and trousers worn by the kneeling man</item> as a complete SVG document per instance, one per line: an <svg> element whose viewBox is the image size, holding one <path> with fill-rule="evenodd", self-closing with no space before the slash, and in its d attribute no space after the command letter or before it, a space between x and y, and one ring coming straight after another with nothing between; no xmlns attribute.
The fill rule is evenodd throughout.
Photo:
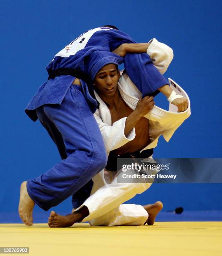
<svg viewBox="0 0 222 256"><path fill-rule="evenodd" d="M153 40L153 42L158 44L159 42L155 40ZM153 51L155 52L155 47L153 48ZM151 53L149 53L149 55L151 56ZM152 56L151 59L153 59ZM163 59L157 57L156 59L163 63ZM157 68L161 69L162 73L166 71L166 66L164 65L160 65L160 67ZM190 115L190 101L187 93L179 87L178 84L172 81L172 79L169 79L169 82L171 88L177 94L188 99L189 106L187 110L182 113L177 113L177 107L172 104L169 104L169 111L154 106L154 108L144 116L149 119L149 136L151 142L141 151L156 147L161 135L163 135L164 139L168 142L177 128ZM121 75L118 82L118 89L126 104L134 110L141 97L141 92L139 92L126 73ZM121 118L112 125L111 114L108 107L96 92L95 95L100 103L100 107L94 116L101 130L107 154L109 154L111 150L119 148L133 140L136 133L133 128L126 138L124 135L126 117ZM91 196L83 203L83 205L75 210L79 210L84 205L88 207L89 215L83 219L83 222L89 221L90 224L94 226L143 225L146 222L148 213L144 207L134 204L121 204L133 198L136 194L144 192L151 186L150 183L120 184L117 183L117 177L115 177L113 181L108 180L107 177L105 179L104 170L93 177L93 182Z"/></svg>

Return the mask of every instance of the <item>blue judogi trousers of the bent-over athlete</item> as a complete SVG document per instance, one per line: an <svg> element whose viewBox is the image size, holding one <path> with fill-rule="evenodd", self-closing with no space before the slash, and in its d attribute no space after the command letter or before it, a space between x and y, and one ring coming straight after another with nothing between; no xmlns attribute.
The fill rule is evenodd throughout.
<svg viewBox="0 0 222 256"><path fill-rule="evenodd" d="M38 118L64 159L27 181L27 190L43 210L58 205L106 166L107 155L101 132L83 95L71 85L61 105L47 104L36 110Z"/></svg>

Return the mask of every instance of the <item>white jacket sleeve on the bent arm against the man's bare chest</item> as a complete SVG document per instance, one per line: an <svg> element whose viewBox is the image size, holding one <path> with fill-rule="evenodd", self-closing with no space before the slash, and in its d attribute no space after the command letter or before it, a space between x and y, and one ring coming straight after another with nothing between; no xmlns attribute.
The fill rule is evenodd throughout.
<svg viewBox="0 0 222 256"><path fill-rule="evenodd" d="M113 125L103 123L102 119L96 113L94 113L94 117L101 131L107 152L120 148L129 141L132 141L136 136L135 128L131 130L127 137L124 134L127 117L119 119Z"/></svg>

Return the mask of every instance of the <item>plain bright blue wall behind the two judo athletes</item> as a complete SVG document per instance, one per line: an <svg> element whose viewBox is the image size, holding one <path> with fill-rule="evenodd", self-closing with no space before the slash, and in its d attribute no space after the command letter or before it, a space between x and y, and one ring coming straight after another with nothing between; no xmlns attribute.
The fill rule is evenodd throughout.
<svg viewBox="0 0 222 256"><path fill-rule="evenodd" d="M220 1L0 1L0 213L17 211L20 183L60 161L39 122L24 108L47 79L45 66L83 31L114 24L138 42L157 38L171 46L174 60L165 77L188 92L192 115L156 157L222 157ZM167 106L164 97L156 103ZM131 202L164 202L164 210L222 209L222 184L154 184ZM71 199L55 210L69 212ZM36 213L41 213L35 207ZM1 221L1 220L0 220Z"/></svg>

